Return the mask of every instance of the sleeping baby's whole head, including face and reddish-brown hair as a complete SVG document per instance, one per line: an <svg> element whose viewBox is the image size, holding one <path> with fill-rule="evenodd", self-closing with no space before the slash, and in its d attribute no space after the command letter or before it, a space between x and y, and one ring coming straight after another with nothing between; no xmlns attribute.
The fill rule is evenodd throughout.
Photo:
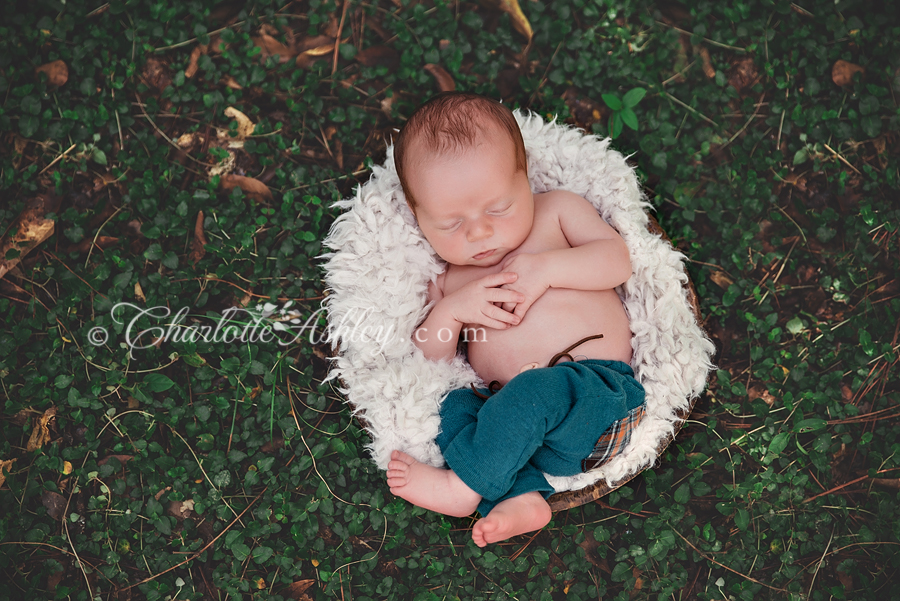
<svg viewBox="0 0 900 601"><path fill-rule="evenodd" d="M444 92L419 107L394 144L406 202L435 251L457 265L496 265L531 231L534 200L512 112Z"/></svg>

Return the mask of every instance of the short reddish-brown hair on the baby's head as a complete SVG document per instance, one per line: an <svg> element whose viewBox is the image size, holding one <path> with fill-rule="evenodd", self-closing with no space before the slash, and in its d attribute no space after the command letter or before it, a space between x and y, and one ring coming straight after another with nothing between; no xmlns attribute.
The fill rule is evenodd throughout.
<svg viewBox="0 0 900 601"><path fill-rule="evenodd" d="M406 202L415 212L416 201L407 184L406 157L410 145L418 140L431 155L456 154L475 145L493 126L505 131L516 153L516 172L528 173L525 142L512 111L504 104L469 92L441 92L416 109L394 143L394 166Z"/></svg>

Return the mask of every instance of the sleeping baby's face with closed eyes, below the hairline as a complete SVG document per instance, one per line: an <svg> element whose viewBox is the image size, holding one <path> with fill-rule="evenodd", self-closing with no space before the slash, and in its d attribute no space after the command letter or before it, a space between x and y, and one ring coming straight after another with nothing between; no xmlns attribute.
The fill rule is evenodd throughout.
<svg viewBox="0 0 900 601"><path fill-rule="evenodd" d="M516 171L513 143L499 134L462 156L417 167L408 185L422 233L448 263L496 265L531 232L528 176Z"/></svg>

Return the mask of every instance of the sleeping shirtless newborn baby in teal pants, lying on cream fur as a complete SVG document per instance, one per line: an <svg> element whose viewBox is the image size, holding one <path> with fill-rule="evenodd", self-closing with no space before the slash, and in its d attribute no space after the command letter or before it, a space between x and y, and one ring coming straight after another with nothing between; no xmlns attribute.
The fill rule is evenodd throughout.
<svg viewBox="0 0 900 601"><path fill-rule="evenodd" d="M504 105L439 94L394 146L406 201L447 269L414 344L433 361L467 343L488 388L452 391L436 440L450 469L395 450L391 492L426 509L483 516L480 547L543 528L554 491L598 438L644 402L631 331L613 290L631 276L628 248L584 198L532 194L522 134ZM499 390L498 390L499 388Z"/></svg>

